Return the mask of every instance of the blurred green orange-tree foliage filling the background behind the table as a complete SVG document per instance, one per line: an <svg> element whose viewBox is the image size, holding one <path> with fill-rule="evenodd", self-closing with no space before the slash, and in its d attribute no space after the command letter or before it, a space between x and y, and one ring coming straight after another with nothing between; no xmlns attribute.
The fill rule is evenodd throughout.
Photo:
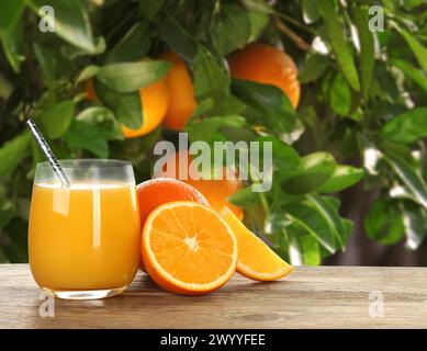
<svg viewBox="0 0 427 351"><path fill-rule="evenodd" d="M38 30L46 4L55 33ZM372 33L375 4L384 31ZM280 254L304 264L425 264L425 256L406 252L427 233L426 9L423 0L1 1L0 262L27 260L32 179L43 155L25 118L36 120L59 158L130 159L137 181L148 179L154 143L176 133L125 140L119 123L139 125L137 89L169 68L139 59L169 47L193 76L190 139L273 143L273 189L245 188L232 201ZM256 41L297 64L297 111L274 87L229 78L225 58ZM91 77L98 102L85 99ZM325 261L347 242L344 256Z"/></svg>

